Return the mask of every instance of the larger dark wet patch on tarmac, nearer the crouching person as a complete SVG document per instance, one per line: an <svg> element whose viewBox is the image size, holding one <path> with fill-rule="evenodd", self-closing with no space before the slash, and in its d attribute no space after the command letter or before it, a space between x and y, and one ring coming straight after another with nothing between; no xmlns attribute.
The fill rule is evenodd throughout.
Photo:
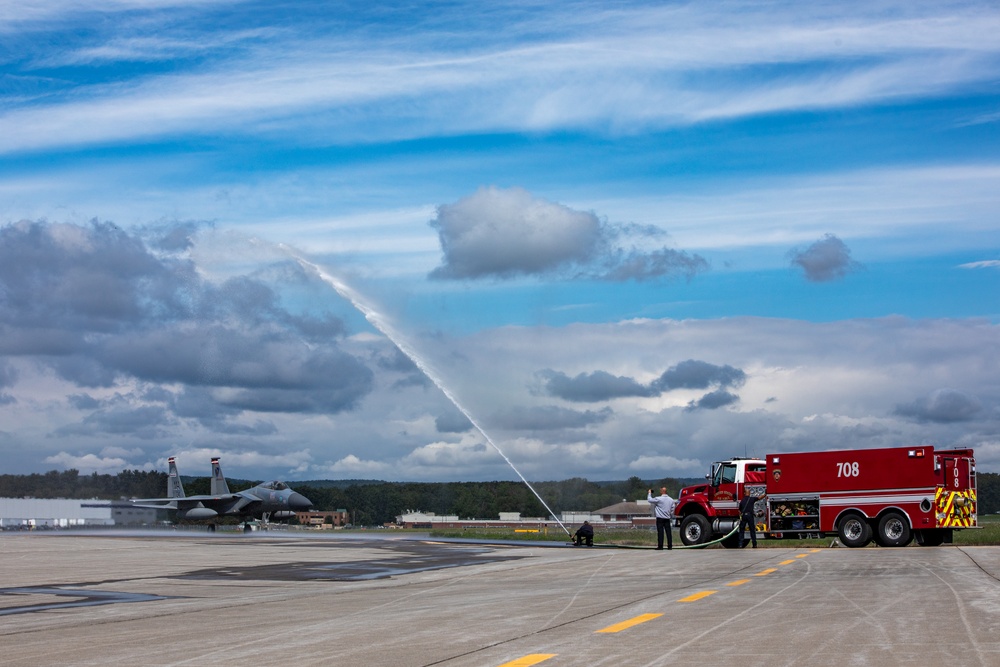
<svg viewBox="0 0 1000 667"><path fill-rule="evenodd" d="M421 547L427 547L421 548ZM398 547L397 547L398 548ZM219 567L196 570L185 579L261 579L270 581L368 581L393 576L443 570L467 565L518 560L515 554L497 554L493 549L449 548L408 544L401 553L386 558L340 563L298 562L250 567Z"/></svg>

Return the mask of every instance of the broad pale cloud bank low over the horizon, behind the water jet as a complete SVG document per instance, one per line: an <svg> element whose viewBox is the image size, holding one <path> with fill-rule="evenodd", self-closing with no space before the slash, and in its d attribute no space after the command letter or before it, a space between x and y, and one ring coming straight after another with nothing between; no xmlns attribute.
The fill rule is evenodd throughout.
<svg viewBox="0 0 1000 667"><path fill-rule="evenodd" d="M421 339L421 354L442 369L445 384L528 479L652 479L700 476L711 461L744 453L918 441L977 450L982 444L980 469L1000 469L994 451L1000 428L997 369L983 363L1000 358L998 340L996 325L974 320L638 320L438 336ZM595 356L598 349L601 354ZM539 368L579 373L603 367L649 378L689 358L745 371L740 403L716 411L686 411L683 405L650 410L646 399L616 399L610 412L583 424L583 431L573 422L530 432L517 430L509 419L492 422L502 405L558 405L529 390ZM439 394L417 387L406 392L401 399L385 386L355 412L283 417L279 432L255 440L252 448L229 439L216 447L177 446L178 431L173 443L144 443L142 453L106 442L92 450L99 453L87 453L83 441L75 453L63 448L40 460L114 473L137 466L162 469L165 457L176 455L182 473L203 475L209 459L221 454L227 475L254 479L280 478L292 470L297 478L516 479L477 433L449 439L435 433L433 418L445 407ZM409 416L398 412L404 405ZM8 429L19 424L8 418L17 409L0 406ZM599 410L601 404L588 409ZM48 419L60 418L48 411ZM364 449L340 444L344 436L331 438L331 433L364 442ZM20 431L11 435L20 437ZM284 440L301 444L280 446ZM23 466L23 452L10 442L10 436L0 437L8 466ZM162 458L154 452L163 452ZM155 459L151 466L144 463L150 458Z"/></svg>

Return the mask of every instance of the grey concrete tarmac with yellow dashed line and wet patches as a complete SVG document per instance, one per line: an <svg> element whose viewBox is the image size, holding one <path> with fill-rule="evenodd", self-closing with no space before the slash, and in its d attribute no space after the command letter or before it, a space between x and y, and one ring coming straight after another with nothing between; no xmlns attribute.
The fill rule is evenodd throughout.
<svg viewBox="0 0 1000 667"><path fill-rule="evenodd" d="M997 665L1000 548L0 535L0 665Z"/></svg>

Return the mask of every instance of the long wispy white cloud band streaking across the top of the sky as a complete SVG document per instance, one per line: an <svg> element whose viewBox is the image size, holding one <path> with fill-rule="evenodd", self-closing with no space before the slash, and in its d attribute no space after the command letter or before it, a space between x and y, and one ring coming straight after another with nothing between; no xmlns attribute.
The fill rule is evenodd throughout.
<svg viewBox="0 0 1000 667"><path fill-rule="evenodd" d="M334 142L581 127L641 132L934 97L987 87L1000 72L1000 14L989 6L938 14L900 5L891 19L857 5L841 14L796 9L640 6L569 22L553 11L535 19L549 23L548 39L525 38L517 28L530 26L513 19L507 30L466 19L464 39L448 40L433 31L402 40L395 31L362 35L340 26L348 32L333 48L326 39L286 42L278 33L248 55L220 57L224 70L209 64L97 83L49 106L9 110L0 116L8 129L0 151L186 132L296 128L301 137L307 127ZM494 20L502 23L504 13ZM233 39L243 30L235 32ZM525 41L512 44L511 35ZM169 38L161 40L166 48ZM217 34L211 40L220 49L229 43ZM88 47L68 57L94 54ZM351 122L358 117L365 120Z"/></svg>

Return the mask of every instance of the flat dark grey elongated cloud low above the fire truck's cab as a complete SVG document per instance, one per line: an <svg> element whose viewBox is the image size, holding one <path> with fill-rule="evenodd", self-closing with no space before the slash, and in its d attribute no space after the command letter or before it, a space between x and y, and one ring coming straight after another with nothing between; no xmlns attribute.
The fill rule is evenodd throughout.
<svg viewBox="0 0 1000 667"><path fill-rule="evenodd" d="M649 384L616 376L605 371L580 373L569 377L565 373L545 369L538 373L544 391L567 401L597 402L614 398L659 396L675 389L707 389L739 387L746 381L746 373L728 364L716 366L707 361L688 359L671 366ZM693 408L715 409L739 400L739 396L716 391L703 396L692 404Z"/></svg>

